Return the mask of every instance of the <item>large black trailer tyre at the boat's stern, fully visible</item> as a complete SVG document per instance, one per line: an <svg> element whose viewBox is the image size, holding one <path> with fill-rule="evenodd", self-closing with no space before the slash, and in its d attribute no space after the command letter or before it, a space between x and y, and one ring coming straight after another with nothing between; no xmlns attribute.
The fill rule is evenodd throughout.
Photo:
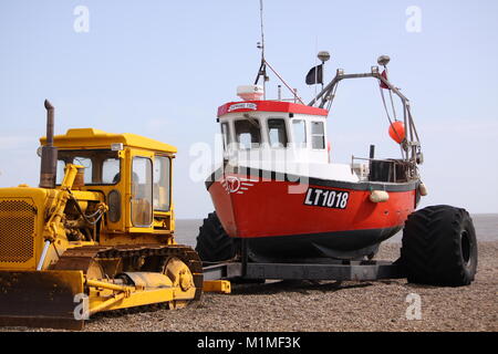
<svg viewBox="0 0 498 354"><path fill-rule="evenodd" d="M465 209L433 206L413 212L403 230L401 261L412 283L463 287L477 270L477 239Z"/></svg>

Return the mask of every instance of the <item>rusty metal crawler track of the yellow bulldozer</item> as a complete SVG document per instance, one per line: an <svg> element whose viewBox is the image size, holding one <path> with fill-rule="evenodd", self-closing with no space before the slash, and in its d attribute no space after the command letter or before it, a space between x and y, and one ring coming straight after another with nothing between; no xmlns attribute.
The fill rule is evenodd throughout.
<svg viewBox="0 0 498 354"><path fill-rule="evenodd" d="M195 298L200 300L203 294L203 262L197 252L184 244L138 244L138 246L84 246L66 250L59 261L52 267L53 270L82 270L84 274L94 261L102 259L129 260L132 258L151 259L158 258L158 267L148 271L163 272L165 262L176 257L180 259L190 270L196 287Z"/></svg>

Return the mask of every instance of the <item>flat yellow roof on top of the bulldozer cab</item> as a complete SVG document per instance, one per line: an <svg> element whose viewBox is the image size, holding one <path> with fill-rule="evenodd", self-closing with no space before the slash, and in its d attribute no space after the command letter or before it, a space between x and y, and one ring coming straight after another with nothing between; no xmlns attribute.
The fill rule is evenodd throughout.
<svg viewBox="0 0 498 354"><path fill-rule="evenodd" d="M46 144L46 137L41 137L40 143ZM175 146L151 139L136 134L112 134L94 128L69 129L64 135L54 136L54 145L59 148L111 148L112 144L122 143L125 146L176 153Z"/></svg>

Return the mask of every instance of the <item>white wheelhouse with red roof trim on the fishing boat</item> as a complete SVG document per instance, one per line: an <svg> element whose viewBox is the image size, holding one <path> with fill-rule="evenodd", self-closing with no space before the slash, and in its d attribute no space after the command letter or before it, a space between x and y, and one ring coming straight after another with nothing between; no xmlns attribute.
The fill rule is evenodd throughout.
<svg viewBox="0 0 498 354"><path fill-rule="evenodd" d="M250 91L259 86L243 86ZM329 112L284 101L258 100L260 92L240 93L249 98L218 108L224 159L231 165L357 181L351 165L330 164L326 116Z"/></svg>

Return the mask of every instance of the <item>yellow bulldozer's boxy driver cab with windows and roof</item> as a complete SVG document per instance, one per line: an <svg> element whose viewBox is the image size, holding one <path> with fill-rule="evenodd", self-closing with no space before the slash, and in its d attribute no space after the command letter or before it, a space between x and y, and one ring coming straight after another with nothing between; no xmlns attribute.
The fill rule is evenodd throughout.
<svg viewBox="0 0 498 354"><path fill-rule="evenodd" d="M45 144L45 138L41 144ZM54 136L54 146L58 147L58 188L68 165L82 166L73 190L102 196L108 206L105 235L174 231L174 146L135 134L110 134L92 128L70 129L65 135Z"/></svg>

